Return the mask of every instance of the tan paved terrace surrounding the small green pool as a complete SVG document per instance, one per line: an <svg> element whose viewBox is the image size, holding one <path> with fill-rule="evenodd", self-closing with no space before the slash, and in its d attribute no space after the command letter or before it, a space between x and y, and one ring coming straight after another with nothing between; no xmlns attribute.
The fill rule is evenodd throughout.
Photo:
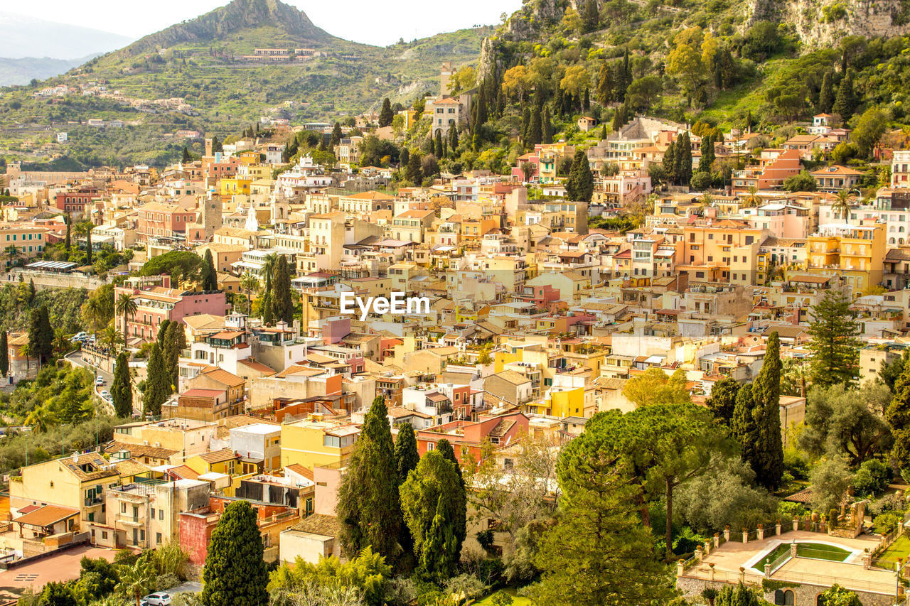
<svg viewBox="0 0 910 606"><path fill-rule="evenodd" d="M855 539L831 537L822 532L795 530L781 535L772 535L763 540L751 540L748 543L729 541L704 557L703 561L685 571L683 576L708 580L712 578L710 564L713 564L715 581L736 582L741 578L740 568L744 568L743 580L761 583L764 578L761 565L763 556L781 543L824 543L834 545L852 554L843 562L794 558L786 561L778 570L773 571L774 581L794 581L807 584L829 585L838 582L848 589L872 591L875 593L893 592L895 573L863 567L864 550L875 550L878 537L860 535ZM753 568L754 566L754 568Z"/></svg>

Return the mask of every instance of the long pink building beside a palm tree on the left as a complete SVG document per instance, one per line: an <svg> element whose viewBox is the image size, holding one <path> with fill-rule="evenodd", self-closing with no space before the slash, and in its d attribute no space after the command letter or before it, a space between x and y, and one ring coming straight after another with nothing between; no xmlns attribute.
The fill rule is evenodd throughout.
<svg viewBox="0 0 910 606"><path fill-rule="evenodd" d="M138 283L130 284L127 281L125 286L114 288L115 301L121 294L127 293L136 301L136 313L126 318L126 330L123 316L118 314L116 317L117 328L124 332L127 343L155 338L164 319L177 322L188 316L227 316L230 313L224 291L194 292L170 288L170 278L162 278L160 284L140 287Z"/></svg>

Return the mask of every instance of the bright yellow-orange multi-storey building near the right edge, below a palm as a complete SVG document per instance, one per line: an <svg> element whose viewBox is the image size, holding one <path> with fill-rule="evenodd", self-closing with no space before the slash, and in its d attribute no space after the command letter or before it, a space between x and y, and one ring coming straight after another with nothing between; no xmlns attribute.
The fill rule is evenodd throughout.
<svg viewBox="0 0 910 606"><path fill-rule="evenodd" d="M882 281L885 269L885 226L826 224L808 238L806 271L843 278L860 295Z"/></svg>

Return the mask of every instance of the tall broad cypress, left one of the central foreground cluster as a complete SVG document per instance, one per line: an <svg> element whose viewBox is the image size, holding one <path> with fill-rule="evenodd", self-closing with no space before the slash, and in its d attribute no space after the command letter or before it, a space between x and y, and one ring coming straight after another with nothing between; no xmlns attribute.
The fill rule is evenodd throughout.
<svg viewBox="0 0 910 606"><path fill-rule="evenodd" d="M385 399L373 399L341 479L336 511L341 548L349 558L369 545L390 559L398 548L398 465L388 412Z"/></svg>

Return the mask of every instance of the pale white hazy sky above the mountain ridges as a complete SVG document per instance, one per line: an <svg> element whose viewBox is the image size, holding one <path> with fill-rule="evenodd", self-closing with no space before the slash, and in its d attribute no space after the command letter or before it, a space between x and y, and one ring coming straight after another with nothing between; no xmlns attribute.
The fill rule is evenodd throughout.
<svg viewBox="0 0 910 606"><path fill-rule="evenodd" d="M399 38L410 41L471 25L494 25L500 22L501 13L521 6L521 0L461 0L458 10L446 11L446 18L441 19L436 5L420 0L284 2L297 6L329 34L374 45L393 44ZM19 0L4 10L139 38L226 4L227 0Z"/></svg>

